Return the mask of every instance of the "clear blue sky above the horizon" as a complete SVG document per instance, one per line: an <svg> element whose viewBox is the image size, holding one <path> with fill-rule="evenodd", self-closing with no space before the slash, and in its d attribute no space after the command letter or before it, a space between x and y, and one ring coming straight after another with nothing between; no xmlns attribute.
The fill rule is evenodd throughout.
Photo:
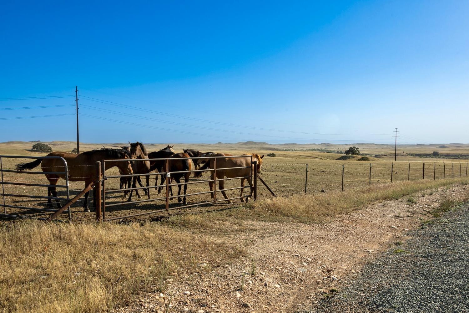
<svg viewBox="0 0 469 313"><path fill-rule="evenodd" d="M78 85L83 142L391 143L396 127L402 144L469 142L469 1L1 1L0 16L0 141L75 140L74 97L4 99Z"/></svg>

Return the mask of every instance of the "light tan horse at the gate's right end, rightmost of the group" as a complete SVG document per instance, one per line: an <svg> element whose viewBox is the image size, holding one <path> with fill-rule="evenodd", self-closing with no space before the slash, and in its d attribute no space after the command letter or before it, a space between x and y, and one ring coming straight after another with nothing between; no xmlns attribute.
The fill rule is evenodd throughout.
<svg viewBox="0 0 469 313"><path fill-rule="evenodd" d="M252 175L254 174L254 170L257 170L257 173L261 172L261 167L262 167L262 158L264 158L264 155L259 156L257 153L249 153L249 154L243 154L246 155L245 158L230 158L233 155L232 154L227 154L227 153L216 153L213 154L212 157L226 157L226 158L217 158L217 179L223 179L225 177L227 178L233 178L233 177L241 177L241 176L250 176L250 178L247 178L248 183L251 187L251 197L252 197L252 191L253 191L253 185L252 185ZM253 161L257 161L257 168L254 169L253 166L251 165L251 157ZM207 170L207 169L213 169L213 160L210 159L205 163L205 165L201 168L201 170ZM237 167L246 167L246 168L237 168ZM218 168L233 168L233 169L218 169ZM194 175L194 177L200 177L202 176L202 173L204 171L198 172ZM212 172L212 176L210 177L211 180L215 178L215 171ZM241 178L241 194L240 197L242 197L242 192L244 190L244 180L246 178ZM209 182L209 187L210 191L213 190L213 184L214 182ZM223 197L227 199L227 194L225 193L225 181L220 180L219 181L219 191L223 194ZM213 193L211 192L211 198L213 198ZM246 201L248 198L246 198ZM244 199L241 198L241 201L244 202ZM231 200L228 200L229 204L233 204Z"/></svg>

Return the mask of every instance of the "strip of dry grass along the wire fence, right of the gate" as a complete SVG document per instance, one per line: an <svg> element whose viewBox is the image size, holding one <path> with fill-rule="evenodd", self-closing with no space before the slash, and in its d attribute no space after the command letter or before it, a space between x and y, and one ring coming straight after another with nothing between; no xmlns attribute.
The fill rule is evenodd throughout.
<svg viewBox="0 0 469 313"><path fill-rule="evenodd" d="M399 199L418 191L458 182L467 182L467 178L386 183L344 192L333 191L325 194L279 197L251 202L238 210L231 210L229 214L269 221L323 223L330 221L337 214L348 213L378 200Z"/></svg>

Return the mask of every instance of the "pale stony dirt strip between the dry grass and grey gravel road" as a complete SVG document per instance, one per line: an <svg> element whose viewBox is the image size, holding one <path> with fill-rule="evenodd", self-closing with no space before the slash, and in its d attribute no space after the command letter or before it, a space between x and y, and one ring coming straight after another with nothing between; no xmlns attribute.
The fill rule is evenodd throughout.
<svg viewBox="0 0 469 313"><path fill-rule="evenodd" d="M169 275L155 286L158 291L118 312L293 312L347 285L364 262L431 218L442 198L465 198L468 187L423 195L414 195L416 204L406 198L380 202L322 225L247 221L257 231L225 237L247 242L246 257L221 266L202 262L193 272Z"/></svg>

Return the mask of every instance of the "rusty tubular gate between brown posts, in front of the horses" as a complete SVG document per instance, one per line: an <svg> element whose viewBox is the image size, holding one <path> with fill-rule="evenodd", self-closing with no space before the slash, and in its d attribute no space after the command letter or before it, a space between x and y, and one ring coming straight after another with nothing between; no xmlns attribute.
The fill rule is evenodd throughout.
<svg viewBox="0 0 469 313"><path fill-rule="evenodd" d="M217 160L218 159L232 159L232 158L250 158L250 165L249 166L242 166L242 167L232 167L232 168L217 168ZM208 169L195 169L195 170L187 170L187 171L170 171L170 163L171 161L175 160L197 160L197 159L204 159L207 160L207 162L210 162L210 159L213 159L213 168L208 168ZM152 214L152 213L157 213L157 212L164 212L168 210L174 210L174 209L182 209L182 208L188 208L191 206L201 206L204 204L213 204L213 203L218 203L222 201L228 201L228 200L234 200L234 199L241 199L241 198L251 198L251 191L254 200L257 199L257 160L253 161L252 160L252 155L236 155L236 156L219 156L219 157L194 157L194 158L165 158L165 159L132 159L132 162L144 162L144 161L164 161L165 162L165 172L157 172L157 173L149 173L149 174L130 174L130 175L113 175L113 176L106 176L106 161L122 161L122 162L129 162L129 160L102 160L101 161L101 177L102 179L102 205L99 207L97 206L97 220L99 221L101 219L101 212L102 211L102 220L103 221L113 221L113 220L118 220L118 219L123 219L123 218L129 218L129 217L135 217L139 215L145 215L145 214ZM250 168L249 175L248 176L239 176L239 177L231 177L231 178L217 178L217 171L220 170L229 170L229 169L237 169L237 168ZM186 183L170 183L171 182L171 176L174 174L183 174L183 173L197 173L197 172L204 172L204 171L209 171L210 173L214 173L214 179L208 179L208 180L196 180L196 181L189 181L187 184L192 185L192 184L199 184L199 183L211 183L213 182L213 191L202 191L202 192L195 192L195 193L188 193L186 195L181 194L181 195L174 195L170 196L169 195L169 187L176 187L176 186L184 186ZM123 192L123 191L135 191L135 190L144 190L144 189L154 189L156 186L144 186L144 187L133 187L133 188L125 188L124 189L107 189L106 190L106 181L110 179L120 179L120 178L126 178L126 177L138 177L138 176L155 176L155 179L158 180L159 176L165 177L165 184L164 185L159 185L158 187L164 188L166 190L166 194L164 197L159 197L159 198L150 198L150 199L142 199L142 200L135 200L135 201L125 201L125 202L113 202L109 203L106 196L115 193L115 192ZM222 199L217 199L217 192L221 191L230 191L230 190L238 190L238 189L243 189L245 188L244 186L240 187L235 187L235 188L227 188L223 190L217 190L217 182L220 181L228 181L228 180L234 180L234 179L247 179L248 180L248 187L249 188L249 193L244 196L240 197L233 197L233 198L222 198ZM181 177L181 179L184 179L184 176ZM252 182L252 189L250 186L250 183ZM246 187L246 188L248 188ZM213 200L212 201L198 201L197 203L192 203L189 205L176 205L170 207L170 200L174 198L179 198L179 197L192 197L192 196L197 196L197 195L202 195L202 194L209 194L213 192ZM164 209L158 209L158 210L151 210L149 212L142 212L142 213L137 213L137 214L130 214L130 215L125 215L125 216L117 216L117 217L112 217L112 218L106 218L106 209L114 206L126 206L126 205L132 205L136 203L144 203L144 202L151 202L151 201L165 201L165 208ZM161 203L162 205L162 203Z"/></svg>

